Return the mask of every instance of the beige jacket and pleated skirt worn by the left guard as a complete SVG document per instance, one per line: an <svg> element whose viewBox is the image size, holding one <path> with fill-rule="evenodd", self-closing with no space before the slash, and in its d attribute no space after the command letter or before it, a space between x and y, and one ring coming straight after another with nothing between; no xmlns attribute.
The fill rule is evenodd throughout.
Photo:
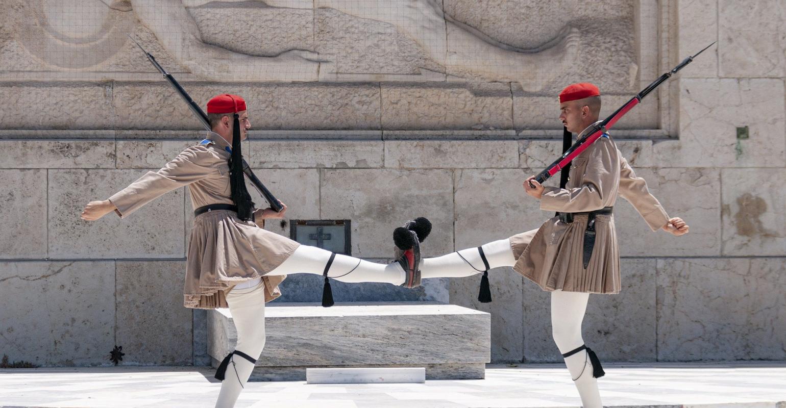
<svg viewBox="0 0 786 408"><path fill-rule="evenodd" d="M164 193L189 186L193 208L233 204L230 193L230 147L219 134L208 132L209 145L185 149L159 171L149 171L109 200L125 218ZM186 256L185 307L227 307L225 294L241 281L263 277L265 300L281 296L285 276L263 276L281 265L299 246L296 241L242 221L233 211L196 216Z"/></svg>

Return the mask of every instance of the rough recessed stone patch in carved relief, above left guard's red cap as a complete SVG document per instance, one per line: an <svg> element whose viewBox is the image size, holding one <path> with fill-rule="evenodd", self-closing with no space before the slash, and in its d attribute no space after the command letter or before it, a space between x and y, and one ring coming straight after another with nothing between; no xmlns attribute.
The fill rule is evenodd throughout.
<svg viewBox="0 0 786 408"><path fill-rule="evenodd" d="M288 50L314 50L314 9L209 2L188 10L204 42L236 53L274 57Z"/></svg>

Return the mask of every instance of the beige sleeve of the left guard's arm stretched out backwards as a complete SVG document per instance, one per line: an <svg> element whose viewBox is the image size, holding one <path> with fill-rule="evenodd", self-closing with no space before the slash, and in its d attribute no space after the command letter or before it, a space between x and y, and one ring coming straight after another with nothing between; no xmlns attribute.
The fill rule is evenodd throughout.
<svg viewBox="0 0 786 408"><path fill-rule="evenodd" d="M159 171L148 171L130 186L109 197L115 204L120 218L125 218L143 205L169 193L208 177L215 171L215 160L207 149L193 146L185 149Z"/></svg>

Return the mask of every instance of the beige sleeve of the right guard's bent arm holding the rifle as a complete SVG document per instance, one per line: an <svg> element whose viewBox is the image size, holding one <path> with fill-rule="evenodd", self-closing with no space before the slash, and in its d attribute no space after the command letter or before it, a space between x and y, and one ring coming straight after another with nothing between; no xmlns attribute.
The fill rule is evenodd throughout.
<svg viewBox="0 0 786 408"><path fill-rule="evenodd" d="M587 157L582 186L573 189L545 187L541 197L542 210L584 212L604 208L619 175L616 147L608 138L601 138L589 149L592 150Z"/></svg>

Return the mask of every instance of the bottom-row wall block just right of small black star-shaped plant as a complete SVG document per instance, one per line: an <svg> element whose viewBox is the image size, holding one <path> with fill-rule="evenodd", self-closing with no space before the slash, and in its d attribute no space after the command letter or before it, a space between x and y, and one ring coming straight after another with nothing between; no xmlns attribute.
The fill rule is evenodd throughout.
<svg viewBox="0 0 786 408"><path fill-rule="evenodd" d="M116 265L116 342L123 364L193 363L193 317L183 307L185 261Z"/></svg>

